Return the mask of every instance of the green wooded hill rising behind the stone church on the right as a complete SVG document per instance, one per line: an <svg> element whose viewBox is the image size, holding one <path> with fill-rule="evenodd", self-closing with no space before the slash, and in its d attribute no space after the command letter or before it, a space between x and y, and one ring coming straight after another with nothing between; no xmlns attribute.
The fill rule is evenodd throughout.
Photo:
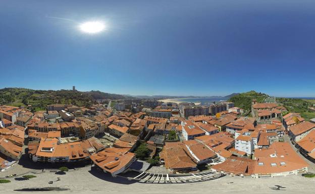
<svg viewBox="0 0 315 194"><path fill-rule="evenodd" d="M245 93L240 93L229 99L229 101L234 102L235 106L240 107L245 110L251 109L251 101L256 99L258 103L264 102L265 98L269 97L267 94L257 93L255 91L249 91Z"/></svg>

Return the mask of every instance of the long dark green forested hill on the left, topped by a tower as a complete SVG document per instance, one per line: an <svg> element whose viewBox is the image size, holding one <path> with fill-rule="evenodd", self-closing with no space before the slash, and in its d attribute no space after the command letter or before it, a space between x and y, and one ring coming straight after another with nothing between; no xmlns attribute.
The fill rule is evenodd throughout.
<svg viewBox="0 0 315 194"><path fill-rule="evenodd" d="M0 104L12 106L32 105L34 109L45 109L54 103L89 105L96 99L129 99L130 96L100 91L80 92L72 90L32 90L25 88L0 89Z"/></svg>

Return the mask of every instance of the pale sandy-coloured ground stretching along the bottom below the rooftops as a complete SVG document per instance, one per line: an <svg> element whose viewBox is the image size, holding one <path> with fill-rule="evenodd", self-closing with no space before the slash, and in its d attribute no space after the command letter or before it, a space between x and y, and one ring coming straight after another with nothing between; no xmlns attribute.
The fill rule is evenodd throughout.
<svg viewBox="0 0 315 194"><path fill-rule="evenodd" d="M204 182L178 184L140 183L124 178L111 177L101 171L91 170L87 166L69 171L65 175L47 171L36 174L36 176L36 178L29 180L8 178L11 182L1 184L0 193L31 193L14 190L44 186L70 188L67 191L44 191L45 193L313 193L315 189L315 178L305 178L301 175L263 178L225 176ZM57 177L60 177L61 180L54 182L54 184L48 184L48 181L55 181ZM286 188L283 188L283 190L270 188L275 185Z"/></svg>

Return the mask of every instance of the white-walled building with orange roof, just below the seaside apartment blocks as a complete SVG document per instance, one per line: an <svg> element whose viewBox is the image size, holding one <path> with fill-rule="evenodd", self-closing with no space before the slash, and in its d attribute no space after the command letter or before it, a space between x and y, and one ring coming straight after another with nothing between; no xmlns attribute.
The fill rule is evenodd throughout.
<svg viewBox="0 0 315 194"><path fill-rule="evenodd" d="M201 130L199 126L197 126L195 123L191 122L190 120L183 120L181 125L182 125L182 134L186 141L193 140L195 137L205 135L205 131Z"/></svg>

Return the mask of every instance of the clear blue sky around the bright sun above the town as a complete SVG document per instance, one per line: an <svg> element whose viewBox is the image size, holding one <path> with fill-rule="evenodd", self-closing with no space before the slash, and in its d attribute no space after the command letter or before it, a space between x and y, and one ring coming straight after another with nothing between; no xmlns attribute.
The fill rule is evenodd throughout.
<svg viewBox="0 0 315 194"><path fill-rule="evenodd" d="M0 88L315 97L314 1L0 4Z"/></svg>

